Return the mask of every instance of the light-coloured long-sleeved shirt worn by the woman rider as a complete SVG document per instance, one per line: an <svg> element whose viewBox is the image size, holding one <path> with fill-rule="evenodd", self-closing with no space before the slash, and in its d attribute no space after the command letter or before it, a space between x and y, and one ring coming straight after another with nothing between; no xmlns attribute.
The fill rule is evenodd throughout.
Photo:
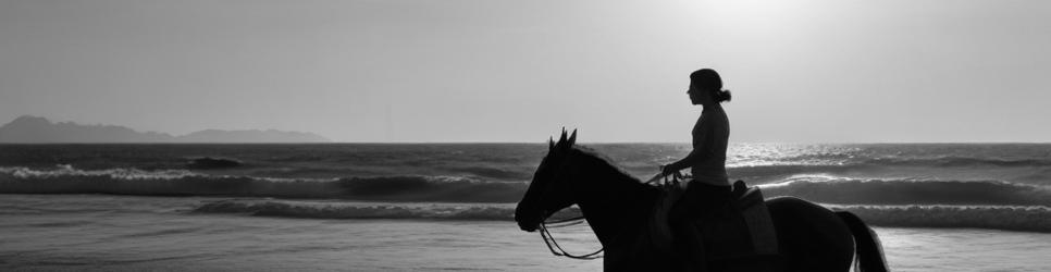
<svg viewBox="0 0 1051 272"><path fill-rule="evenodd" d="M690 171L694 182L728 186L726 149L730 139L730 120L722 107L709 108L704 109L693 126L693 152L697 152L695 156L700 160L691 165Z"/></svg>

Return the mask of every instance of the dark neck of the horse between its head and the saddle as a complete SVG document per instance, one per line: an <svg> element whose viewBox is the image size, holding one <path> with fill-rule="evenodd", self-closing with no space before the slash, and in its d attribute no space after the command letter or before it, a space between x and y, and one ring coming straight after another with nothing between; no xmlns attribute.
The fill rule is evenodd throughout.
<svg viewBox="0 0 1051 272"><path fill-rule="evenodd" d="M592 159L597 160L597 159ZM608 163L585 162L581 173L578 206L598 240L608 245L629 227L644 223L656 198L656 189L640 184Z"/></svg>

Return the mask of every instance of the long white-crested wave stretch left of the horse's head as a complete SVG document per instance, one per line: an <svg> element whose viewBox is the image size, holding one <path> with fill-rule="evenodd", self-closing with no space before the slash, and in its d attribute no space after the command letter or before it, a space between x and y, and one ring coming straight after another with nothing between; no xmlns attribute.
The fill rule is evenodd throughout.
<svg viewBox="0 0 1051 272"><path fill-rule="evenodd" d="M234 196L375 201L514 202L524 183L456 176L272 178L208 175L186 170L58 170L0 168L0 193Z"/></svg>

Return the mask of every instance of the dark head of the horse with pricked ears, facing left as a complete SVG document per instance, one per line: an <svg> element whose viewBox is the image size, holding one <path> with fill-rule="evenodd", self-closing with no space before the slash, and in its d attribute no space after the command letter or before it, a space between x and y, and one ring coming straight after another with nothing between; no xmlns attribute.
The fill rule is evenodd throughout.
<svg viewBox="0 0 1051 272"><path fill-rule="evenodd" d="M566 131L562 129L558 143L547 141L547 156L540 162L526 196L515 209L515 221L522 231L536 231L551 214L573 205L570 184L565 180L569 177L570 168L567 165L572 161L576 141L577 129L569 138L566 138Z"/></svg>

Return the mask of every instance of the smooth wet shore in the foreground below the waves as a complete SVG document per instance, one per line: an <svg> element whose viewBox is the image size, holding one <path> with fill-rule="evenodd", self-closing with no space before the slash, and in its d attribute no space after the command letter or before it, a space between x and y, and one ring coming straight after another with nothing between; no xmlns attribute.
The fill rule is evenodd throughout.
<svg viewBox="0 0 1051 272"><path fill-rule="evenodd" d="M319 220L195 213L209 198L4 195L0 270L599 271L511 221ZM35 208L29 208L27 206ZM893 271L1047 271L1051 234L876 227ZM583 227L568 250L597 249Z"/></svg>

